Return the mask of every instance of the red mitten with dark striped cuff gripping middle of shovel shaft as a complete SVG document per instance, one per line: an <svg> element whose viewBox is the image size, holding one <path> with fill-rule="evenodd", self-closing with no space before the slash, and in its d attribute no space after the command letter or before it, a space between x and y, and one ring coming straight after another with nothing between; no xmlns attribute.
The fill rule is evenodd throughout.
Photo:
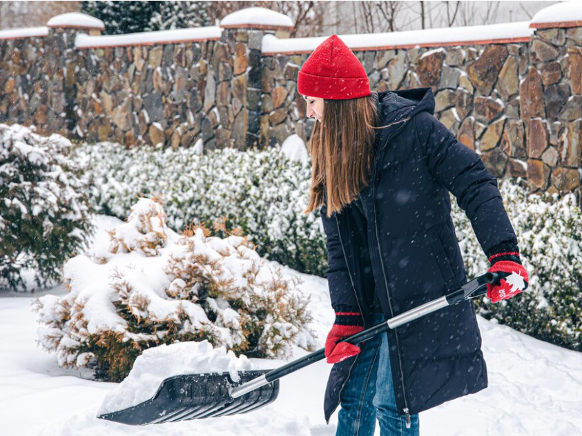
<svg viewBox="0 0 582 436"><path fill-rule="evenodd" d="M360 347L342 342L345 337L355 335L364 330L362 314L359 309L349 306L338 306L336 308L336 321L325 340L325 357L328 364L338 362L355 356L360 353Z"/></svg>

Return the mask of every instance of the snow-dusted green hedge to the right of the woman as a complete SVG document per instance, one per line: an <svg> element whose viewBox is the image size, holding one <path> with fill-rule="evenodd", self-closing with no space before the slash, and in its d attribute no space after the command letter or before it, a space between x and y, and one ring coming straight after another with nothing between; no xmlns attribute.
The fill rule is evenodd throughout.
<svg viewBox="0 0 582 436"><path fill-rule="evenodd" d="M520 183L505 180L500 190L530 287L498 304L483 298L478 310L528 335L582 351L582 212L573 194L528 195ZM453 217L471 279L485 273L489 262L456 202Z"/></svg>

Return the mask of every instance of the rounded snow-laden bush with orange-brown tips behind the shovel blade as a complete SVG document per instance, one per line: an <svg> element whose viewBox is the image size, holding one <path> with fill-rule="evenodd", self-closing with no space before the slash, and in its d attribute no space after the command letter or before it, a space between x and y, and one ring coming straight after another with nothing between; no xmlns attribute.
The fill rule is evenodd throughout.
<svg viewBox="0 0 582 436"><path fill-rule="evenodd" d="M139 199L127 222L64 268L69 293L35 300L39 340L61 366L95 368L123 379L142 350L208 340L236 355L287 357L315 345L309 299L239 235L182 235L166 226L159 199ZM123 248L123 249L120 249Z"/></svg>

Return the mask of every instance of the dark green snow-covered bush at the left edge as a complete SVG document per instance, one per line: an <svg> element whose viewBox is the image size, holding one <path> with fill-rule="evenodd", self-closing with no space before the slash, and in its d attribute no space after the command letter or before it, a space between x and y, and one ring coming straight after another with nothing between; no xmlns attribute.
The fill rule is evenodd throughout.
<svg viewBox="0 0 582 436"><path fill-rule="evenodd" d="M36 271L38 286L61 279L64 261L86 242L86 187L71 149L60 135L0 124L0 289L26 287L24 268Z"/></svg>

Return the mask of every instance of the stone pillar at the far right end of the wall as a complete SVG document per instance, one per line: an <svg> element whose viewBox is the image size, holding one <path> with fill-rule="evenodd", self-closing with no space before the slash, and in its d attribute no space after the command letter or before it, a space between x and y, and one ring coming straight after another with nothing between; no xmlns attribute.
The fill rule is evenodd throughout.
<svg viewBox="0 0 582 436"><path fill-rule="evenodd" d="M582 22L544 17L543 10L532 19L530 68L521 85L527 177L533 192L576 192L580 199Z"/></svg>

